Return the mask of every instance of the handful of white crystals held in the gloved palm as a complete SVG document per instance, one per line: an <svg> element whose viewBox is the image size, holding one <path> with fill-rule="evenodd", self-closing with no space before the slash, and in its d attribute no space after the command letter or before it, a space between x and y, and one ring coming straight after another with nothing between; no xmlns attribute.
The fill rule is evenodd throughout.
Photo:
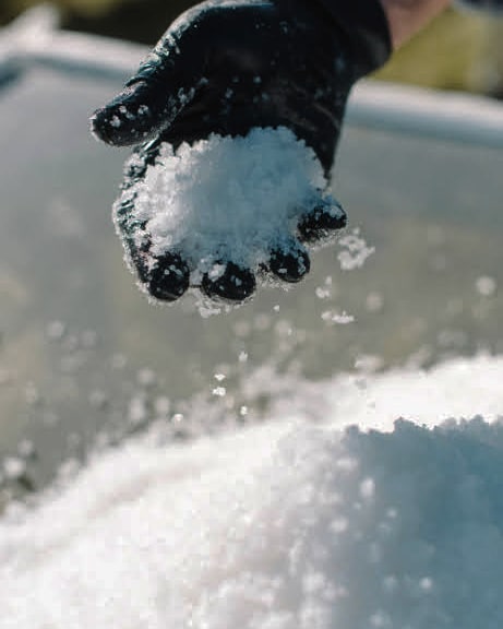
<svg viewBox="0 0 503 629"><path fill-rule="evenodd" d="M308 211L340 212L323 195L326 187L304 142L286 128L256 128L176 152L164 144L145 178L123 194L135 198L131 223L144 225L155 257L176 250L191 269L205 271L215 260L256 269Z"/></svg>

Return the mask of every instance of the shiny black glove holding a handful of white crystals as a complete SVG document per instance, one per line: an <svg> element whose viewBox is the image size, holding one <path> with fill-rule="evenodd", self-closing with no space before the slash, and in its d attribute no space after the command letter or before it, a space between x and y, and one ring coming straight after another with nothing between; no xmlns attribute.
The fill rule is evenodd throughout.
<svg viewBox="0 0 503 629"><path fill-rule="evenodd" d="M125 192L155 163L163 143L245 135L253 127L289 128L328 176L350 87L390 49L378 0L212 0L171 25L124 91L94 114L92 129L116 146L142 143L127 166ZM192 270L179 251L152 262L145 225L132 217L133 207L134 194L123 194L116 207L129 261L152 296L172 301L191 284ZM345 224L342 211L306 207L290 249L272 251L267 271L299 281L310 268L302 241ZM204 275L200 287L239 301L253 293L255 277L253 270L227 262L217 278Z"/></svg>

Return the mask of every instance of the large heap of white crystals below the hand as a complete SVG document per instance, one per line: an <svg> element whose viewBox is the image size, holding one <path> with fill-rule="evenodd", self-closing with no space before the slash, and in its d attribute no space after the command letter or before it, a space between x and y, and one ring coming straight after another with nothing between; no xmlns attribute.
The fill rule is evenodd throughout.
<svg viewBox="0 0 503 629"><path fill-rule="evenodd" d="M265 423L97 455L0 522L0 627L500 628L502 379L283 383Z"/></svg>

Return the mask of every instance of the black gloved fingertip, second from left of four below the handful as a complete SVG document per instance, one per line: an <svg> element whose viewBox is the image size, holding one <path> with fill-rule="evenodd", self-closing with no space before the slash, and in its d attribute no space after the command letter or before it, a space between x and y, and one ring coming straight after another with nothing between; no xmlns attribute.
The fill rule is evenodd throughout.
<svg viewBox="0 0 503 629"><path fill-rule="evenodd" d="M201 282L203 293L225 301L244 301L251 297L255 287L253 273L233 262L216 262Z"/></svg>

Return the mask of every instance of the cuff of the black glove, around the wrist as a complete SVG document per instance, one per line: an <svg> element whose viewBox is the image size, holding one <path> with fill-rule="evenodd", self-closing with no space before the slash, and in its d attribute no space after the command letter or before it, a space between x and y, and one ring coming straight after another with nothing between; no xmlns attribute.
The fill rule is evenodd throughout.
<svg viewBox="0 0 503 629"><path fill-rule="evenodd" d="M384 66L392 54L392 38L386 14L379 0L316 2L331 13L348 38L355 59L355 80Z"/></svg>

